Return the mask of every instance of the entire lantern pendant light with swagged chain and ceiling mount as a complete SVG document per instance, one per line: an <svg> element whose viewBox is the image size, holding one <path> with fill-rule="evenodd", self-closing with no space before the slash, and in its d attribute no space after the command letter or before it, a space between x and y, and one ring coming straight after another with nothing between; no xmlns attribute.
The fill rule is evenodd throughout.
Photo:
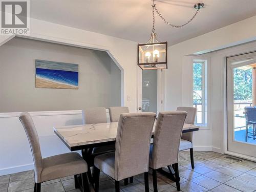
<svg viewBox="0 0 256 192"><path fill-rule="evenodd" d="M196 17L199 10L203 7L203 3L194 5L194 8L197 10L194 16L191 17L191 19L185 24L177 26L166 21L166 19L157 10L155 0L153 0L152 33L150 39L145 44L138 44L138 66L142 70L167 69L167 41L161 42L157 39L157 34L155 33L155 11L168 26L181 28L189 24Z"/></svg>

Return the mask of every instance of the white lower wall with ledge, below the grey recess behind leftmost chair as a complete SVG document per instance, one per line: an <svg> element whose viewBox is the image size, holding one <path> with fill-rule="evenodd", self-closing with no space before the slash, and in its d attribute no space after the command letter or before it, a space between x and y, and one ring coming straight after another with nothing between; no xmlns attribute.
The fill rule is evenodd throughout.
<svg viewBox="0 0 256 192"><path fill-rule="evenodd" d="M106 110L109 121L109 111ZM0 113L0 176L34 168L29 142L18 116ZM39 135L42 157L68 153L53 126L82 124L82 111L30 112Z"/></svg>

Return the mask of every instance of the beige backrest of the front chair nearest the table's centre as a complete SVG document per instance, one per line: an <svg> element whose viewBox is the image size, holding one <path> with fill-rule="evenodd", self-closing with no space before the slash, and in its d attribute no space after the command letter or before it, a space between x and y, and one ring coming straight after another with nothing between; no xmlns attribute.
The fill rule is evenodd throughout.
<svg viewBox="0 0 256 192"><path fill-rule="evenodd" d="M123 113L116 136L115 179L148 172L155 113Z"/></svg>

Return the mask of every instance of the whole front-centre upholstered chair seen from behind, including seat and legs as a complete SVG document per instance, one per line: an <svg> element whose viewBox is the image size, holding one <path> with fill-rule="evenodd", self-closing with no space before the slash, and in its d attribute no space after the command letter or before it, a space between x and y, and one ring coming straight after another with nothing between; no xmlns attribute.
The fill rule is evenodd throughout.
<svg viewBox="0 0 256 192"><path fill-rule="evenodd" d="M99 190L99 173L119 181L144 173L145 191L148 187L148 159L155 113L124 113L120 115L116 136L116 151L96 156L94 159L95 191Z"/></svg>

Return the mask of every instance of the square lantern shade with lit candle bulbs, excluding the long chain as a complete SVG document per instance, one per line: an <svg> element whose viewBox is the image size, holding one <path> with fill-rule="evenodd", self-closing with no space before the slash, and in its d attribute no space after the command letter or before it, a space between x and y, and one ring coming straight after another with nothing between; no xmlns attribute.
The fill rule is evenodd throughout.
<svg viewBox="0 0 256 192"><path fill-rule="evenodd" d="M138 44L138 66L142 70L167 69L167 41L157 40L154 32L145 44Z"/></svg>

